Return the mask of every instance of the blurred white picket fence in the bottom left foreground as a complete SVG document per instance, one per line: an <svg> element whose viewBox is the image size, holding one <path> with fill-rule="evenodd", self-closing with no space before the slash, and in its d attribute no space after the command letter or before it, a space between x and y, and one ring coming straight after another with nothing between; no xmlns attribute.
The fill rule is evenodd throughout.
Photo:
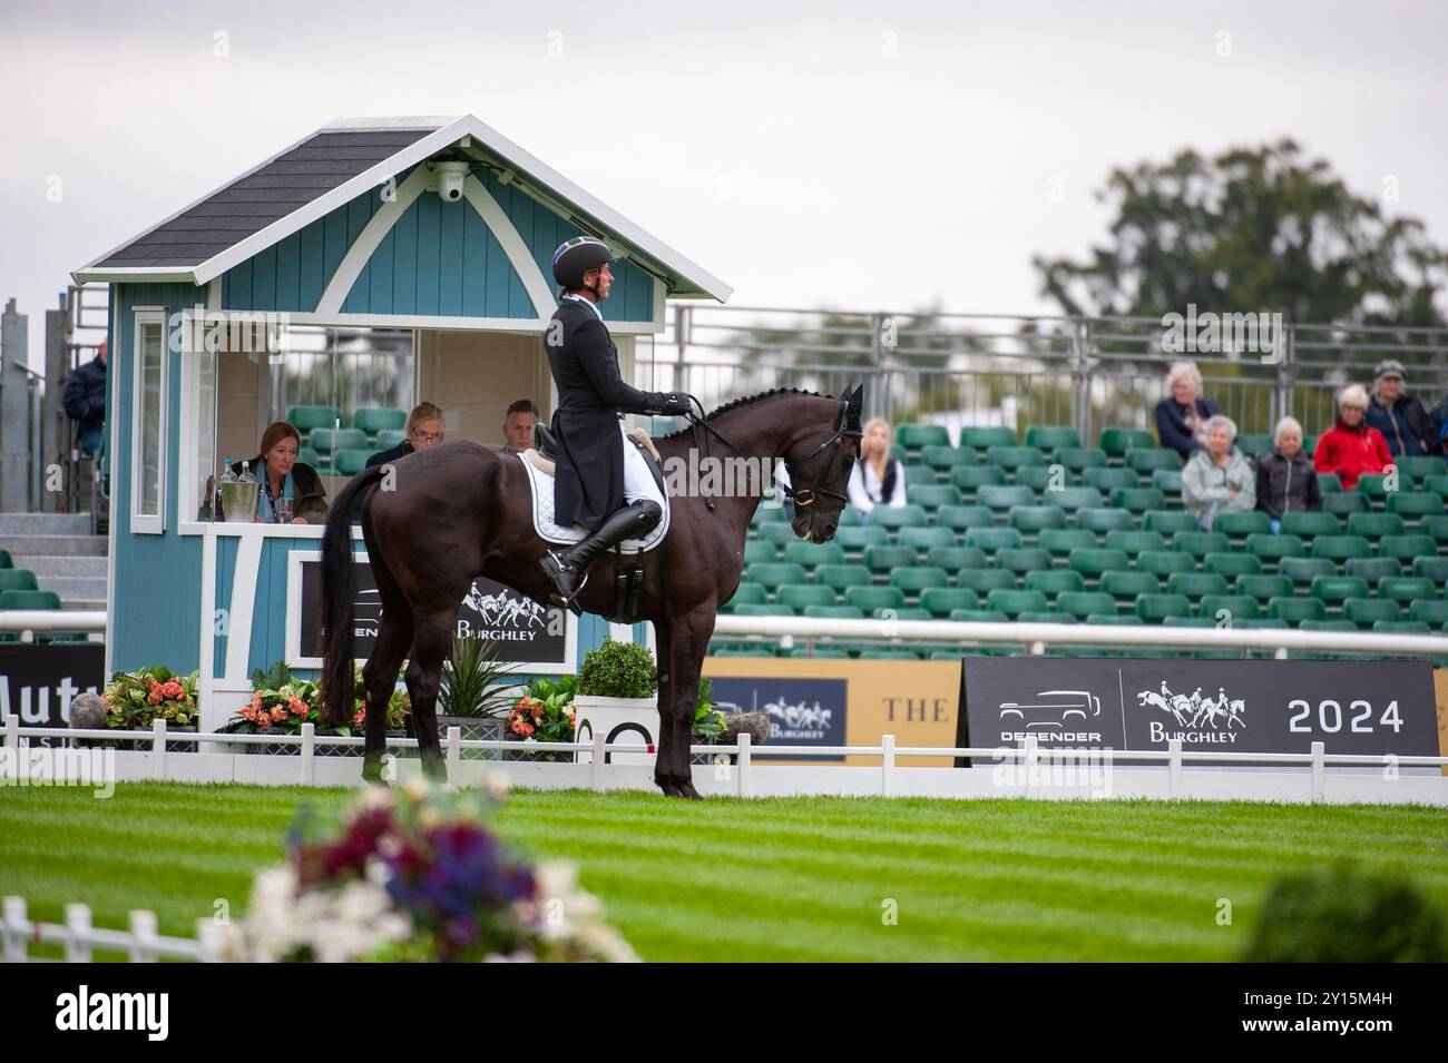
<svg viewBox="0 0 1448 1063"><path fill-rule="evenodd" d="M0 959L25 963L32 959L32 944L58 944L67 963L91 963L97 949L126 953L132 963L214 960L216 924L198 918L195 930L194 939L165 937L156 933L155 913L143 910L130 913L129 930L107 930L91 924L91 910L84 904L67 904L65 923L33 923L23 897L6 897L0 907Z"/></svg>

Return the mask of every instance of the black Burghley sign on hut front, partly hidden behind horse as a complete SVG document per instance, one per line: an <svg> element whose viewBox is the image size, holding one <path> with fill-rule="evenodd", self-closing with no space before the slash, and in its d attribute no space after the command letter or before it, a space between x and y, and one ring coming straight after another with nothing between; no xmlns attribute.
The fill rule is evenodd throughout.
<svg viewBox="0 0 1448 1063"><path fill-rule="evenodd" d="M294 590L288 593L287 664L321 667L321 564L316 555L294 552ZM376 642L382 619L372 565L353 561L355 652L365 661ZM295 607L291 607L295 602ZM472 581L458 610L460 638L487 639L497 646L497 659L518 665L517 671L572 673L576 658L576 623L572 613L544 606L497 580L482 576Z"/></svg>

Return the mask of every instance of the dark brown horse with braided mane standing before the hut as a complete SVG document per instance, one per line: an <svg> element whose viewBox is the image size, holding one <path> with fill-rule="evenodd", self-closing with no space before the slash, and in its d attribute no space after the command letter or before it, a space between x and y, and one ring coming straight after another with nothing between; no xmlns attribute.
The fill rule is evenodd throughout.
<svg viewBox="0 0 1448 1063"><path fill-rule="evenodd" d="M783 460L794 484L786 493L795 503L795 535L825 542L840 524L859 440L856 386L837 399L785 389L738 399L654 443L670 486L670 469L681 469L679 461L688 467L691 447L698 451L695 467L705 471L705 487L711 487L711 466L738 473ZM515 457L472 443L445 443L397 461L392 489L375 490L385 470L378 466L355 476L327 516L321 539L323 719L337 726L353 713L350 515L356 495L366 492L362 538L381 594L382 620L362 670L363 777L376 780L381 774L387 700L407 659L423 769L442 780L446 765L437 742L437 684L458 609L478 576L547 602L549 587L539 568L546 544L533 531L527 473ZM763 495L773 489L765 476L733 479L733 493L712 486L673 495L669 534L644 554L640 612L641 619L653 620L659 646L654 781L670 797L699 795L689 772L699 670L718 607L738 589L744 531ZM725 474L714 482L728 480ZM584 610L607 613L613 596L614 561L604 555L594 564L578 603Z"/></svg>

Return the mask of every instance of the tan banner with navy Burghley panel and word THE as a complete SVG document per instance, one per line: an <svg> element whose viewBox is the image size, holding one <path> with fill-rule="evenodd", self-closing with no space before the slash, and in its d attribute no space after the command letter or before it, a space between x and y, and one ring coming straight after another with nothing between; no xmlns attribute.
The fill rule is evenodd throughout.
<svg viewBox="0 0 1448 1063"><path fill-rule="evenodd" d="M724 712L770 713L770 742L791 745L951 746L960 665L953 661L840 661L809 658L710 657L704 674ZM817 709L818 704L818 709ZM772 706L772 707L770 707ZM828 713L828 723L822 725ZM767 743L766 743L767 745ZM760 755L756 754L756 758ZM763 755L765 759L767 754ZM779 758L818 764L825 758ZM828 758L873 765L879 756ZM901 767L948 768L948 756L911 756Z"/></svg>

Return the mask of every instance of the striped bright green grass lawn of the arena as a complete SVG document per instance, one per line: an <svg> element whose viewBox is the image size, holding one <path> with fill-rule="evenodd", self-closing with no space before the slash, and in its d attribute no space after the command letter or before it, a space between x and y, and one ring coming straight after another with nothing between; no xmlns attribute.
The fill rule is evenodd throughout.
<svg viewBox="0 0 1448 1063"><path fill-rule="evenodd" d="M352 794L4 788L0 894L54 921L84 901L109 927L151 908L190 936L217 900L245 910L303 803ZM1342 858L1448 904L1448 814L1422 807L515 791L498 827L578 862L652 960L1225 960L1274 878Z"/></svg>

